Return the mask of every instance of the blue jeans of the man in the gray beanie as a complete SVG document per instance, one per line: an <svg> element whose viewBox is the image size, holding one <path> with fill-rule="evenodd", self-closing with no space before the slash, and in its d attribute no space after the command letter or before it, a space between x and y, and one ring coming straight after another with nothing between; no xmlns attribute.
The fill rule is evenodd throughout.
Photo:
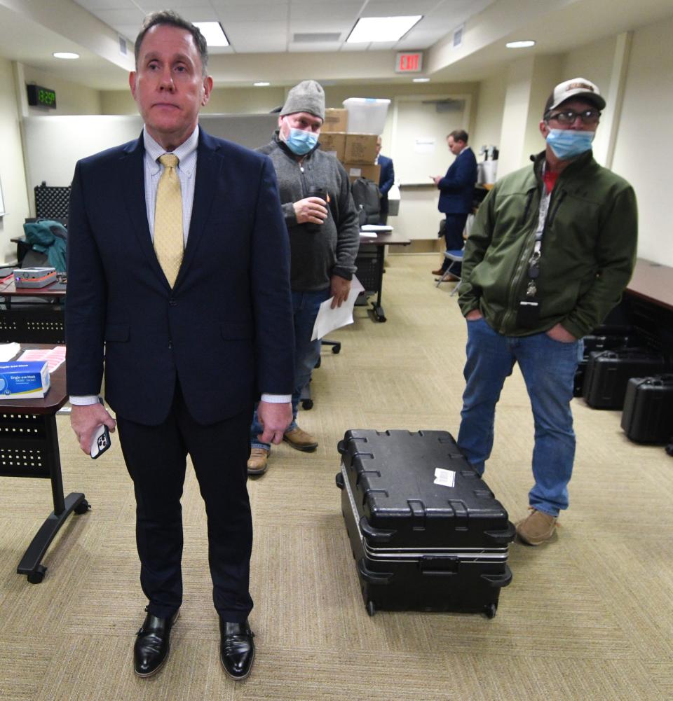
<svg viewBox="0 0 673 701"><path fill-rule="evenodd" d="M295 379L292 392L292 423L286 430L297 428L297 411L302 389L311 379L311 373L320 358L320 339L311 340L313 325L318 315L320 305L331 297L330 288L319 292L292 292L292 311L295 322ZM257 404L253 413L253 423L250 428L251 448L271 450L271 444L262 443L258 435L262 433L262 425L257 416Z"/></svg>

